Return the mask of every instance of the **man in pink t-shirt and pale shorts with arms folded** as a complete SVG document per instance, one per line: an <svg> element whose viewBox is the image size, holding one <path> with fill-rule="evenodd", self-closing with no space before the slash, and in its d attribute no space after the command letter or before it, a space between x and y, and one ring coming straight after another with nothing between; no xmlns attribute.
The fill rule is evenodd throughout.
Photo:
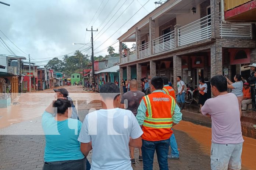
<svg viewBox="0 0 256 170"><path fill-rule="evenodd" d="M214 98L202 107L211 117L211 169L240 170L243 137L237 97L227 92L227 79L216 75L210 80Z"/></svg>

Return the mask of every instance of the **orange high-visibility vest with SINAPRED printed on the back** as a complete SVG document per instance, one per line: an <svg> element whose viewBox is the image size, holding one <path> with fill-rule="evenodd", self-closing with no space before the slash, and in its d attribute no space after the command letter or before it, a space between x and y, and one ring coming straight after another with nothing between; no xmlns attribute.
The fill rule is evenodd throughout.
<svg viewBox="0 0 256 170"><path fill-rule="evenodd" d="M173 134L173 112L175 100L163 92L154 92L142 97L146 105L146 119L142 125L142 139L166 140Z"/></svg>

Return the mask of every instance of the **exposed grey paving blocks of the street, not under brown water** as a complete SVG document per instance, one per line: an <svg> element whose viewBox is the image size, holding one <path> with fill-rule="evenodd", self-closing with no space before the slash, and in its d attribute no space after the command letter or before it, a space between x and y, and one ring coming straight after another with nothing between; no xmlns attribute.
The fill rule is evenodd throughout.
<svg viewBox="0 0 256 170"><path fill-rule="evenodd" d="M204 154L202 147L186 133L175 131L181 157L168 160L172 170L200 169L210 170L210 158ZM2 135L0 136L0 169L3 170L39 170L43 166L45 137L43 135ZM138 151L135 159L138 159ZM90 161L90 156L88 156ZM142 162L136 160L134 170L143 169ZM154 169L159 169L157 158Z"/></svg>

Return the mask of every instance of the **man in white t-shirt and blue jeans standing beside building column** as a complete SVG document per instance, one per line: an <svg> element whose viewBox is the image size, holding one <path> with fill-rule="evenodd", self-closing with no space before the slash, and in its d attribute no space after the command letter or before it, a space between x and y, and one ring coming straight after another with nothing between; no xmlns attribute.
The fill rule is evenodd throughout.
<svg viewBox="0 0 256 170"><path fill-rule="evenodd" d="M185 106L185 83L181 80L181 76L177 76L177 102L181 106L181 110Z"/></svg>

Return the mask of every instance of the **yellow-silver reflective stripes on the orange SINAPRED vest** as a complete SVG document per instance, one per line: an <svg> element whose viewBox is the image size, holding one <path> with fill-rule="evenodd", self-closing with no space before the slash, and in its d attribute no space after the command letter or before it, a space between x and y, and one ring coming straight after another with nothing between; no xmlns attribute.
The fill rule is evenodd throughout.
<svg viewBox="0 0 256 170"><path fill-rule="evenodd" d="M171 96L170 96L171 97ZM143 123L143 126L146 127L152 127L152 128L171 128L173 127L173 113L174 113L174 108L175 108L175 100L173 99L173 97L171 97L172 101L171 101L171 118L152 118L152 108L150 105L150 100L148 96L145 96L145 101L147 104L147 112L149 114L149 117L146 116L145 121ZM152 123L148 123L148 122L152 122ZM166 124L154 124L155 123L166 123Z"/></svg>

